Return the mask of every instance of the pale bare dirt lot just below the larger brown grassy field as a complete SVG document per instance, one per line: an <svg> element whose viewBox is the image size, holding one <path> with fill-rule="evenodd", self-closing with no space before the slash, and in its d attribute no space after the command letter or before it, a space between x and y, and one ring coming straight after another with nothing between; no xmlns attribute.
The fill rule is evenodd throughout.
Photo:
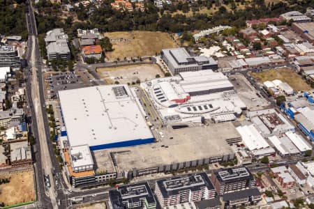
<svg viewBox="0 0 314 209"><path fill-rule="evenodd" d="M157 74L163 77L163 72L158 65L150 64L98 68L97 72L100 77L105 79L107 84L114 84L114 82L119 82L119 84L132 84L132 82L136 82L137 79L144 82L145 80L154 79Z"/></svg>

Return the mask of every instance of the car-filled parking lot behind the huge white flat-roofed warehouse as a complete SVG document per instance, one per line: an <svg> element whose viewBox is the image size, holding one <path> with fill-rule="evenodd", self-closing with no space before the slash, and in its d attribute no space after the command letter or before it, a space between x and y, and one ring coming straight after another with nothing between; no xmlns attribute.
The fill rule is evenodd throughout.
<svg viewBox="0 0 314 209"><path fill-rule="evenodd" d="M47 72L45 74L46 98L57 100L58 91L91 86L88 72Z"/></svg>

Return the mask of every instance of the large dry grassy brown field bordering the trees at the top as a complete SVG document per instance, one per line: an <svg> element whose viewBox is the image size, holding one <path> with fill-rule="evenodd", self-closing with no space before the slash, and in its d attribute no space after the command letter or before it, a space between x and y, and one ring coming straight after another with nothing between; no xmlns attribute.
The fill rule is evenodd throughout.
<svg viewBox="0 0 314 209"><path fill-rule="evenodd" d="M105 33L104 36L110 38L114 48L113 52L106 53L109 60L155 55L161 49L177 47L168 33L130 31Z"/></svg>

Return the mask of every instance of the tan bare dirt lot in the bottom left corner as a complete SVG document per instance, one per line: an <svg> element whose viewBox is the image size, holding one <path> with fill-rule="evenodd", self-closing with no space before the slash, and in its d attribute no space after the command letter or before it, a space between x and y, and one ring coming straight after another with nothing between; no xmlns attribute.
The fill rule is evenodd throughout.
<svg viewBox="0 0 314 209"><path fill-rule="evenodd" d="M10 179L10 183L0 185L0 203L10 206L35 199L32 171L2 175L0 178Z"/></svg>

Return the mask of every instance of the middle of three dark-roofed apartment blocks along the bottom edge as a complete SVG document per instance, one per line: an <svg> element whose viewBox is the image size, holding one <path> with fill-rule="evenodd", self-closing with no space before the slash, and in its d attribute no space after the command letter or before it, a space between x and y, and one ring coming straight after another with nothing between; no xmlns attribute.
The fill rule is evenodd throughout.
<svg viewBox="0 0 314 209"><path fill-rule="evenodd" d="M214 199L216 196L206 173L157 180L155 193L162 207Z"/></svg>

